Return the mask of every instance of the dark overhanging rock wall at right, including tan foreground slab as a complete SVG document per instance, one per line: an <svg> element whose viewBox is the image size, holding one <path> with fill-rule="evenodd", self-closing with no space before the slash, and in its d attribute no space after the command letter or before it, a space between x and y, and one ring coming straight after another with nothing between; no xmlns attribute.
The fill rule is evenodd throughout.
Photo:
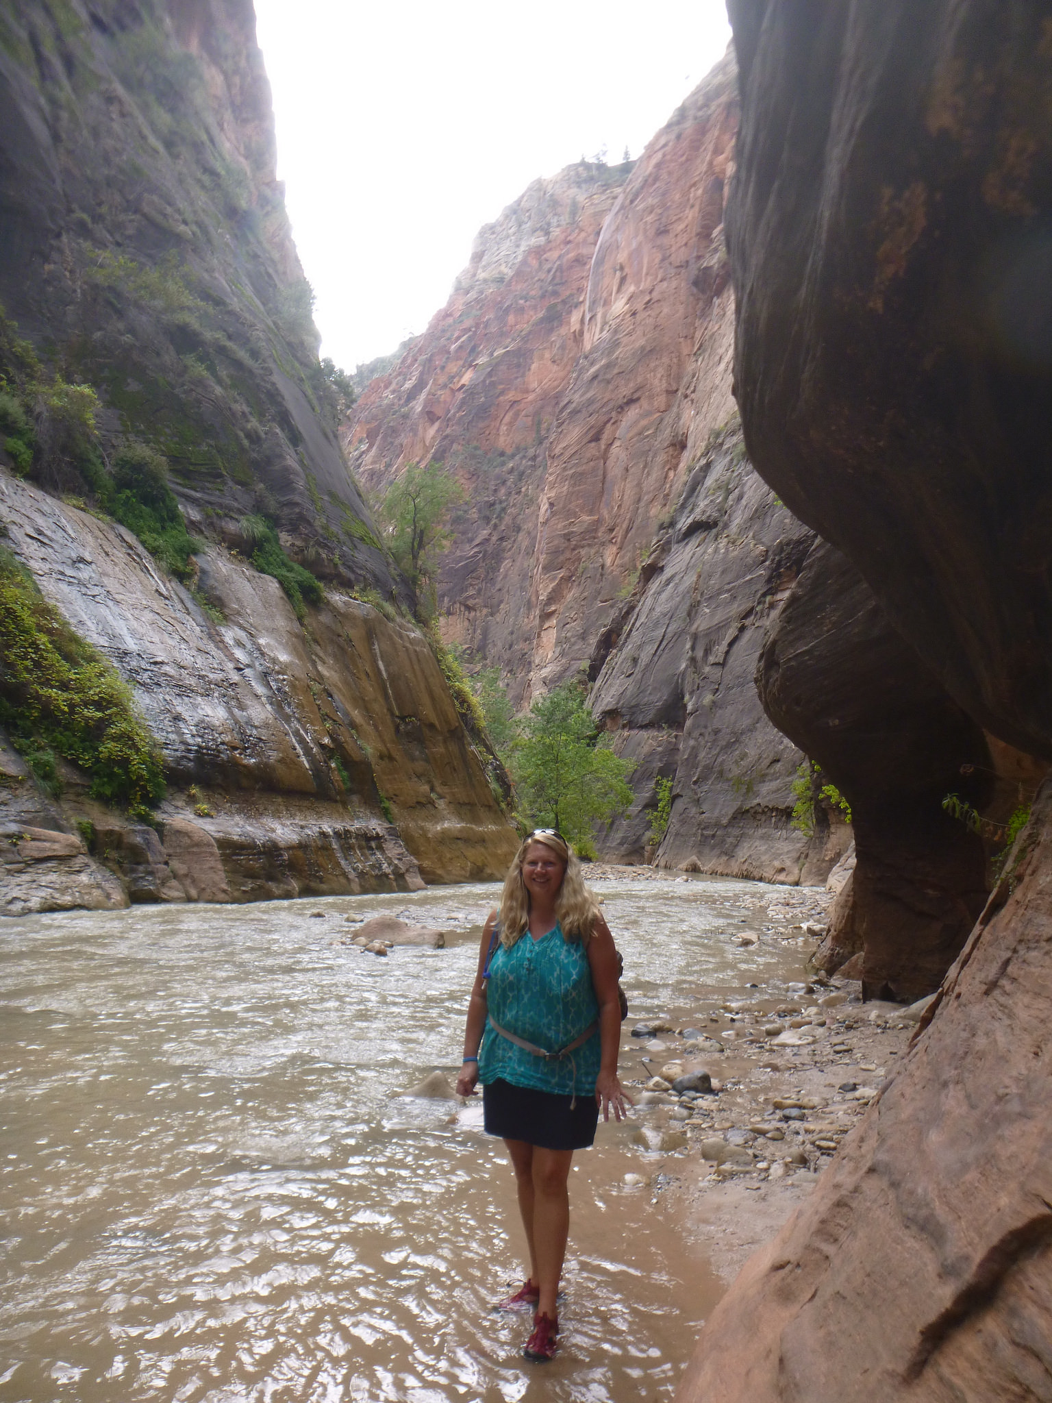
<svg viewBox="0 0 1052 1403"><path fill-rule="evenodd" d="M860 752L867 706L874 720L864 692L898 686L901 728L936 742L917 756L930 835L958 760L985 745L992 770L1032 781L1052 755L1048 8L729 11L746 443L850 563L844 574L826 557L809 599L805 567L762 676L771 710L797 734L825 731L830 770L872 791L902 735L878 714ZM863 616L891 664L877 680L851 647ZM832 638L818 636L823 617ZM839 703L822 693L837 659L850 671ZM840 709L854 744L830 735ZM919 797L905 796L908 819ZM902 1065L707 1322L683 1403L1052 1397L1051 835L1045 780ZM922 922L947 897L973 899L975 857L958 856ZM948 870L940 859L940 885ZM901 965L909 955L895 951Z"/></svg>

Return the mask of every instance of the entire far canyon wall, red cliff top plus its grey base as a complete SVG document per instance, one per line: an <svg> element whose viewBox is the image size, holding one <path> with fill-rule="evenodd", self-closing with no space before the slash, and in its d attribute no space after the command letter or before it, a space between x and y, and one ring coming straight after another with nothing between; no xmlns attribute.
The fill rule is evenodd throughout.
<svg viewBox="0 0 1052 1403"><path fill-rule="evenodd" d="M588 671L634 803L602 856L818 880L847 838L790 825L802 755L752 671L809 533L745 460L722 217L728 56L634 164L571 166L481 230L447 306L351 411L362 480L440 460L466 490L442 563L447 637L516 706Z"/></svg>

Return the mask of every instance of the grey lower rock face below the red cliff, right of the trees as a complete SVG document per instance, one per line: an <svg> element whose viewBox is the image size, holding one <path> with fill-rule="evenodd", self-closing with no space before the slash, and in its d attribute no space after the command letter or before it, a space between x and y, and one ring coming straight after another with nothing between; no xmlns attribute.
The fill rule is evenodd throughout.
<svg viewBox="0 0 1052 1403"><path fill-rule="evenodd" d="M814 838L791 826L790 787L804 756L757 717L753 685L764 629L812 539L752 471L738 429L700 455L647 557L633 609L592 658L592 709L614 752L637 762L637 801L602 833L603 856L825 880L847 829L830 831L821 805ZM658 779L672 783L672 811L655 850Z"/></svg>

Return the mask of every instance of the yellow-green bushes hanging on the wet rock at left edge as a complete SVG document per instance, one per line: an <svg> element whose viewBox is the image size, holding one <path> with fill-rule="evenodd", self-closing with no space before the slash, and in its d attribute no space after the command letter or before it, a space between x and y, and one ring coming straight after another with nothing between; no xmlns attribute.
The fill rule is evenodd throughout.
<svg viewBox="0 0 1052 1403"><path fill-rule="evenodd" d="M91 796L147 814L164 794L160 751L116 669L79 637L0 547L0 725L55 793L55 755L91 776Z"/></svg>

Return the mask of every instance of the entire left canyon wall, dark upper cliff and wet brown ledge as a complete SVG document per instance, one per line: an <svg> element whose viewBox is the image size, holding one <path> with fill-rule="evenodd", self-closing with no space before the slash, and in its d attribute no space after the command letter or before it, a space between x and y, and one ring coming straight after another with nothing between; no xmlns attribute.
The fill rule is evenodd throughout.
<svg viewBox="0 0 1052 1403"><path fill-rule="evenodd" d="M168 776L151 825L66 762L50 797L0 735L3 909L499 875L499 765L338 442L251 0L4 4L0 109L1 544ZM129 443L195 533L181 581L107 516ZM261 529L320 602L250 564Z"/></svg>

